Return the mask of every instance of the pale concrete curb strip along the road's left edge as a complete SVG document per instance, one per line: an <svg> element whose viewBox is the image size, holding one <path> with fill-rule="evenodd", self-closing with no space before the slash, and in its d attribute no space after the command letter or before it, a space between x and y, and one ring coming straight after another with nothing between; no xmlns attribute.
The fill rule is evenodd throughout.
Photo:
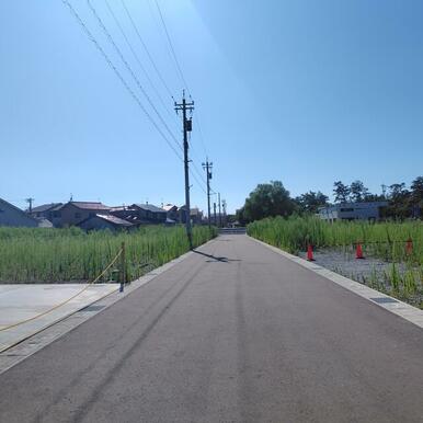
<svg viewBox="0 0 423 423"><path fill-rule="evenodd" d="M210 243L213 243L216 238L210 239L204 244L197 247L202 249ZM34 332L32 335L26 336L24 340L19 341L18 343L11 345L8 350L0 352L0 375L8 369L14 367L19 363L23 362L31 355L43 350L45 346L49 345L52 342L60 339L66 335L73 329L78 328L80 324L90 320L98 313L106 310L108 307L113 306L115 302L125 298L127 295L132 294L134 290L140 288L141 286L150 283L164 272L168 272L176 264L181 263L188 256L194 254L193 251L187 251L186 253L180 255L176 259L171 260L168 263L164 263L160 267L152 270L140 278L132 282L125 286L123 293L118 291L118 288L113 293L106 294L104 297L99 298L98 300L91 302L84 308L75 311L70 315L64 316L62 319L59 319L52 324L44 327L43 329Z"/></svg>

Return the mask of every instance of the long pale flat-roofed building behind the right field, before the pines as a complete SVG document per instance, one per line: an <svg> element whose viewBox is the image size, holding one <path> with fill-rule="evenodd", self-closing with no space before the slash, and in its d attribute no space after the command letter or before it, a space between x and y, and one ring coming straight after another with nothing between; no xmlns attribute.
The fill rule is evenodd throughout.
<svg viewBox="0 0 423 423"><path fill-rule="evenodd" d="M379 220L380 209L387 205L388 202L341 203L319 208L319 217L328 221Z"/></svg>

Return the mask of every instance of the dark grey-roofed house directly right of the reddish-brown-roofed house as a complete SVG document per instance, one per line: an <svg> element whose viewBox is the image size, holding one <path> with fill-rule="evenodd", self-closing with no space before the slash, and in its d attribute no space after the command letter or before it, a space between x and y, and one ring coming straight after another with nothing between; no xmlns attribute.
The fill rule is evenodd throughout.
<svg viewBox="0 0 423 423"><path fill-rule="evenodd" d="M167 211L152 204L133 204L112 207L111 214L134 225L161 225L167 221Z"/></svg>

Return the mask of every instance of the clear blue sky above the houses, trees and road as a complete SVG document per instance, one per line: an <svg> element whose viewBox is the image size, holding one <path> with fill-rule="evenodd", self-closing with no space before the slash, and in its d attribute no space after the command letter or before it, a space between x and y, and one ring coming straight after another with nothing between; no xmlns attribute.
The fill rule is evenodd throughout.
<svg viewBox="0 0 423 423"><path fill-rule="evenodd" d="M195 101L192 159L201 172L206 153L214 162L213 188L229 211L271 180L293 195L331 194L335 180L380 192L423 174L422 1L158 1ZM168 134L87 1L69 2ZM180 100L155 0L125 2ZM122 1L108 4L148 78L105 0L91 4L180 141L173 100ZM184 203L182 162L61 0L1 1L0 57L0 197L21 207L71 193L107 205ZM192 205L206 209L195 180Z"/></svg>

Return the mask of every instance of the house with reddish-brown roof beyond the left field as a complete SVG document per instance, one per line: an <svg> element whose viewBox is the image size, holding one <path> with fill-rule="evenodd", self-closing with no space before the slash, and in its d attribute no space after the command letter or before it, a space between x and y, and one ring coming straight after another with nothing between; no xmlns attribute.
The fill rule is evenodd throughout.
<svg viewBox="0 0 423 423"><path fill-rule="evenodd" d="M55 227L77 226L96 214L108 215L111 207L100 202L68 202L53 211L52 221Z"/></svg>

